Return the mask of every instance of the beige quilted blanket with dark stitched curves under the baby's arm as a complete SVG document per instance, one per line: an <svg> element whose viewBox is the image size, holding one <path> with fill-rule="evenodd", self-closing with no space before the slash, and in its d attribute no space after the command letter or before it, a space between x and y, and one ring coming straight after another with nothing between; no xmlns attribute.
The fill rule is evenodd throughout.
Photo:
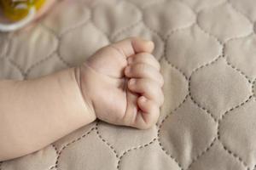
<svg viewBox="0 0 256 170"><path fill-rule="evenodd" d="M94 122L0 169L255 170L255 21L255 0L62 0L37 25L0 34L0 78L46 75L141 36L166 82L157 126Z"/></svg>

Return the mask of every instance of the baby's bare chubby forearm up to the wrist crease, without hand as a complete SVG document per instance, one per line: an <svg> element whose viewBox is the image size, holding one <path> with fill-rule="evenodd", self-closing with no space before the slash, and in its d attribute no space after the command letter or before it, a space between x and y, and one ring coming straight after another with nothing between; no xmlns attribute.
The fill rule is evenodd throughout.
<svg viewBox="0 0 256 170"><path fill-rule="evenodd" d="M39 150L96 119L76 70L27 81L0 81L0 161Z"/></svg>

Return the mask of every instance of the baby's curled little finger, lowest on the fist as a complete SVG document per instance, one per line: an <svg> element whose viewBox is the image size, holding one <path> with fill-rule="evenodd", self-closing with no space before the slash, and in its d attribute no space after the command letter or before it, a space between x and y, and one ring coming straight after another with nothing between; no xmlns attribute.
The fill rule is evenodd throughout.
<svg viewBox="0 0 256 170"><path fill-rule="evenodd" d="M160 116L160 108L154 101L141 96L137 99L141 119L137 119L138 128L147 129L152 127Z"/></svg>

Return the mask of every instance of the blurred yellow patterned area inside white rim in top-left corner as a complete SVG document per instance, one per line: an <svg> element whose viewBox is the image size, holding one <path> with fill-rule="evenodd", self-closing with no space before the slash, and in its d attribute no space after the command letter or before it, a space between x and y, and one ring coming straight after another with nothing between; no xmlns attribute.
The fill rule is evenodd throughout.
<svg viewBox="0 0 256 170"><path fill-rule="evenodd" d="M0 0L3 14L9 20L22 20L27 16L30 9L38 10L44 5L45 0Z"/></svg>

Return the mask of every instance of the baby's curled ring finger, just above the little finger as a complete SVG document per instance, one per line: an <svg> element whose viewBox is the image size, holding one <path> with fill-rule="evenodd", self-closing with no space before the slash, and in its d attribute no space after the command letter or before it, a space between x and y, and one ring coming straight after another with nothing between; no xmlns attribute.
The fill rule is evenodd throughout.
<svg viewBox="0 0 256 170"><path fill-rule="evenodd" d="M164 103L164 94L158 82L148 78L131 78L128 88L133 93L142 94L147 99L154 100L159 106Z"/></svg>

